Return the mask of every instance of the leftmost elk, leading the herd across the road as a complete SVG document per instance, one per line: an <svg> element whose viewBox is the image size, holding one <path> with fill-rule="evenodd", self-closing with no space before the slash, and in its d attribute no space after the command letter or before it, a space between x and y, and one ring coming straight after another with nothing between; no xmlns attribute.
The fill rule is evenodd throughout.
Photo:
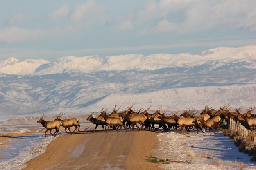
<svg viewBox="0 0 256 170"><path fill-rule="evenodd" d="M44 116L45 114L43 114ZM52 134L52 129L55 129L55 132L52 134L52 136L54 135L54 137L57 135L57 133L59 132L59 127L62 125L61 121L45 121L43 120L43 116L40 117L40 119L37 121L38 123L41 123L43 125L43 127L46 128L45 131L45 137L46 137L46 132L48 130L50 130L50 134Z"/></svg>

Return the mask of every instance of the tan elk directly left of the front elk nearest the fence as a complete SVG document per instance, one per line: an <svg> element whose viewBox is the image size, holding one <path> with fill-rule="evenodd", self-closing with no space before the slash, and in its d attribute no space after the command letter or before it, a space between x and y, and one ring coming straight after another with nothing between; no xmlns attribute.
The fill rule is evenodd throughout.
<svg viewBox="0 0 256 170"><path fill-rule="evenodd" d="M179 112L179 111L178 111ZM183 127L191 127L195 126L197 128L197 134L198 134L198 129L200 129L202 132L202 127L198 123L197 119L194 118L184 118L183 116L177 116L177 113L175 113L172 118L177 122L178 126L177 128L181 127L181 130L183 130ZM177 130L177 128L175 130ZM203 132L204 133L204 132Z"/></svg>

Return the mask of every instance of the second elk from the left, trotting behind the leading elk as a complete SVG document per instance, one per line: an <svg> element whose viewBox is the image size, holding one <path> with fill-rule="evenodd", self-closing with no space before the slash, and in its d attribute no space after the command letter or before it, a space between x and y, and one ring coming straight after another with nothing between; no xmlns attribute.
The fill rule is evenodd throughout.
<svg viewBox="0 0 256 170"><path fill-rule="evenodd" d="M54 121L61 121L62 126L65 128L65 131L69 134L72 134L70 127L75 126L75 130L77 130L78 127L78 132L80 132L80 125L78 124L79 119L77 118L71 118L71 119L62 119L61 120L61 116L63 116L63 112L61 112L58 116L56 116L56 119L54 119ZM69 130L69 132L67 131L67 128ZM73 133L75 132L75 130L73 131Z"/></svg>

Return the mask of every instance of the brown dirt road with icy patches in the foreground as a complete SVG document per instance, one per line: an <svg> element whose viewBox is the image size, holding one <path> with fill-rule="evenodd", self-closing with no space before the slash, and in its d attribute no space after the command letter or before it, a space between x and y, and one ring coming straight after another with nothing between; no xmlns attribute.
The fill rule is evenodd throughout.
<svg viewBox="0 0 256 170"><path fill-rule="evenodd" d="M155 143L156 133L147 131L62 135L24 170L158 170L145 161Z"/></svg>

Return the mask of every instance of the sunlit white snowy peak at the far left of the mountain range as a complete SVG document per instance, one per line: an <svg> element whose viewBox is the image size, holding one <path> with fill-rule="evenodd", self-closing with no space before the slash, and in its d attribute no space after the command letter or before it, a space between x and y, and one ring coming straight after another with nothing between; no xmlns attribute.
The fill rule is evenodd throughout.
<svg viewBox="0 0 256 170"><path fill-rule="evenodd" d="M16 75L33 74L36 68L47 63L50 63L50 62L43 59L18 60L17 58L10 57L0 61L0 73L16 74Z"/></svg>

